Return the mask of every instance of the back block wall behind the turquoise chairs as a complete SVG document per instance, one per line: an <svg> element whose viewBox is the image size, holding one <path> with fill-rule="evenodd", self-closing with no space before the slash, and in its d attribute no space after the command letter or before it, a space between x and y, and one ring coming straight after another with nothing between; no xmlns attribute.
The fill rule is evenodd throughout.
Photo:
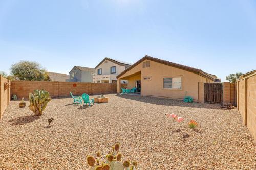
<svg viewBox="0 0 256 170"><path fill-rule="evenodd" d="M44 89L52 97L87 94L117 93L116 83L80 83L80 82L42 82L42 81L12 81L11 94L16 94L19 99L28 99L30 92Z"/></svg>

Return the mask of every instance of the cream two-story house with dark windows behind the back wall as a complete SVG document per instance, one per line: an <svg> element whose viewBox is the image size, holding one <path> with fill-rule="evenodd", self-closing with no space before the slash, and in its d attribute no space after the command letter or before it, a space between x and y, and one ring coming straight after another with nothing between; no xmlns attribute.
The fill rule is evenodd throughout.
<svg viewBox="0 0 256 170"><path fill-rule="evenodd" d="M93 76L93 83L117 83L116 76L131 65L132 64L123 61L104 58L95 67L96 72L95 76ZM122 80L121 83L127 83L127 81Z"/></svg>

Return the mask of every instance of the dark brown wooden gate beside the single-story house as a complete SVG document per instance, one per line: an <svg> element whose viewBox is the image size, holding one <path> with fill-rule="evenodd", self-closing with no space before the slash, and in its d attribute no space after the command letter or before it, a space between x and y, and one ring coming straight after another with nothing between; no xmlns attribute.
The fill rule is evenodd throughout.
<svg viewBox="0 0 256 170"><path fill-rule="evenodd" d="M223 102L223 83L204 83L204 103Z"/></svg>

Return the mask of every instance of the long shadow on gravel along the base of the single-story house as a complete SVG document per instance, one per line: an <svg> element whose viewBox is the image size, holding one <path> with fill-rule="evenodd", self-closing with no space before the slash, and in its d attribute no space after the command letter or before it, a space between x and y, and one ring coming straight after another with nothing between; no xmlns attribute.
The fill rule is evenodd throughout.
<svg viewBox="0 0 256 170"><path fill-rule="evenodd" d="M150 103L155 105L165 106L181 106L181 107L194 107L194 108L205 108L205 109L220 109L218 104L207 104L207 103L185 103L182 100L168 99L168 98L157 98L153 96L138 96L138 95L116 95L119 98L135 100L144 103Z"/></svg>

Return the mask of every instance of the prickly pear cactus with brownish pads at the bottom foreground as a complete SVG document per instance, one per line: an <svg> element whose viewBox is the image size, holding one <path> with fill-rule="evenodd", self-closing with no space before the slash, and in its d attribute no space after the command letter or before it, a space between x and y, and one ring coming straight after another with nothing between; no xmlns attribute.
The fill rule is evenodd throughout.
<svg viewBox="0 0 256 170"><path fill-rule="evenodd" d="M96 159L92 156L88 156L87 163L91 167L90 170L136 170L137 162L131 164L129 161L124 161L123 164L121 163L122 154L118 153L119 148L120 145L116 144L112 147L112 153L105 157L100 157L100 152L96 154ZM99 160L101 160L101 163Z"/></svg>

